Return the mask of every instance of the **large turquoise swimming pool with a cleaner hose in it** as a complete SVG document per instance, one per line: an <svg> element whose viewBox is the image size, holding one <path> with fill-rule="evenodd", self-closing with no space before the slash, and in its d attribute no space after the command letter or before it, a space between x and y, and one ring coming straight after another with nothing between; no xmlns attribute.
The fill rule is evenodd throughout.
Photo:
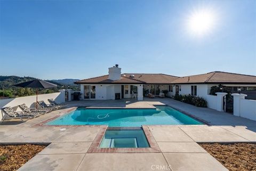
<svg viewBox="0 0 256 171"><path fill-rule="evenodd" d="M203 123L167 105L156 109L88 109L77 108L45 125L108 125L140 127L141 125L202 125Z"/></svg>

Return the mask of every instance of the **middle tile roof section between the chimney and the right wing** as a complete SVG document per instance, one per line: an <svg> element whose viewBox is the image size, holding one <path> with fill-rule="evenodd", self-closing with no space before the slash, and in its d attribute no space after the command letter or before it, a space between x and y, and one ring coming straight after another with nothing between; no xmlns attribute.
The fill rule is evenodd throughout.
<svg viewBox="0 0 256 171"><path fill-rule="evenodd" d="M134 78L146 82L146 84L170 84L173 80L179 78L166 74L123 74L126 77ZM134 75L134 77L131 77Z"/></svg>

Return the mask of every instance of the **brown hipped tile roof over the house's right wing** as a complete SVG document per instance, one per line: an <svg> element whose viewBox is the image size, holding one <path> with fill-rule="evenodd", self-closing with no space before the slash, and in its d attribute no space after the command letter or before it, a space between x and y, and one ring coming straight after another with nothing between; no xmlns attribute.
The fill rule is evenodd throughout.
<svg viewBox="0 0 256 171"><path fill-rule="evenodd" d="M206 74L179 77L172 84L191 84L191 83L241 83L241 84L256 84L256 76L235 74L230 72L214 71Z"/></svg>

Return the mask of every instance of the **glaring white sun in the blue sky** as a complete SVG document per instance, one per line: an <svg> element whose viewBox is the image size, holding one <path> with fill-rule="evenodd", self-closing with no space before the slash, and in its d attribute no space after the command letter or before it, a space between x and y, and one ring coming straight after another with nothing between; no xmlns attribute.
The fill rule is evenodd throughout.
<svg viewBox="0 0 256 171"><path fill-rule="evenodd" d="M209 9L196 10L188 17L187 28L190 34L203 36L209 34L216 25L216 14Z"/></svg>

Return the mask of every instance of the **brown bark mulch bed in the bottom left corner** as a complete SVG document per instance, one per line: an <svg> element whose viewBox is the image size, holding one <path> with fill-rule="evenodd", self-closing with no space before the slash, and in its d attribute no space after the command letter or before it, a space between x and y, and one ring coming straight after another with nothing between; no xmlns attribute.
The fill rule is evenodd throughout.
<svg viewBox="0 0 256 171"><path fill-rule="evenodd" d="M45 145L0 145L0 171L19 169L28 160L42 151Z"/></svg>

